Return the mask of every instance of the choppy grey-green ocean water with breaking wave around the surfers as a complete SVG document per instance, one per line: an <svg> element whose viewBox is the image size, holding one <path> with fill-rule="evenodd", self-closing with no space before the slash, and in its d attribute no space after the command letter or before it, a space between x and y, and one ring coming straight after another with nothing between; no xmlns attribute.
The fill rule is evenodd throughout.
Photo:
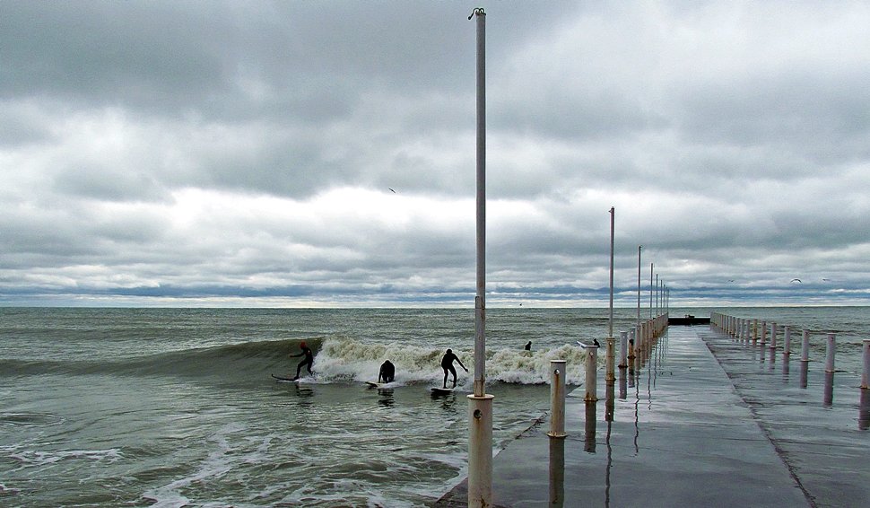
<svg viewBox="0 0 870 508"><path fill-rule="evenodd" d="M820 362L837 333L846 372L870 337L866 308L715 311L810 329ZM551 359L582 383L576 341L604 338L607 314L487 311L495 449L547 411ZM635 316L617 309L614 331ZM272 379L301 340L315 375ZM431 505L466 468L471 375L429 390L448 347L473 371L473 309L0 308L0 506ZM367 388L387 358L396 381Z"/></svg>

